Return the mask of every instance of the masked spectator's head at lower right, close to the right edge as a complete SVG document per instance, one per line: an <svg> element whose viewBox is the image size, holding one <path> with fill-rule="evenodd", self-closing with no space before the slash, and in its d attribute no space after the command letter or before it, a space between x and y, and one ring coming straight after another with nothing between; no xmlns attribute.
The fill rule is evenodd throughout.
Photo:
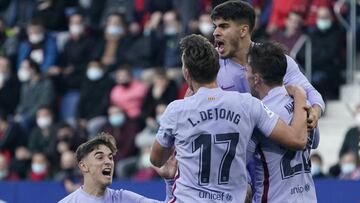
<svg viewBox="0 0 360 203"><path fill-rule="evenodd" d="M359 180L360 169L358 168L358 160L356 160L355 153L349 151L340 157L340 179L344 180Z"/></svg>

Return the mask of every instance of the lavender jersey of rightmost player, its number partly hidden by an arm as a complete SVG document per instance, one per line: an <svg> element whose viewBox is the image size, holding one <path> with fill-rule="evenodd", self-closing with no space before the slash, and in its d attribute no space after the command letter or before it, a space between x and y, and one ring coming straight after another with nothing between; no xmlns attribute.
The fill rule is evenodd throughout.
<svg viewBox="0 0 360 203"><path fill-rule="evenodd" d="M291 122L294 101L284 86L270 90L262 101L285 122ZM310 150L318 144L314 136L319 135L309 133L305 150L292 151L254 133L247 148L248 160L253 155L255 162L253 202L317 202L310 173Z"/></svg>

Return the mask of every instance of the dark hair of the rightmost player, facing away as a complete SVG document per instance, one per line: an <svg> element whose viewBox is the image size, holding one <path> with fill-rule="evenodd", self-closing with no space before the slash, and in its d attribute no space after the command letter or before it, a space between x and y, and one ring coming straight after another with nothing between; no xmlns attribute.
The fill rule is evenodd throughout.
<svg viewBox="0 0 360 203"><path fill-rule="evenodd" d="M282 45L275 42L254 44L248 53L249 65L253 73L259 73L266 85L283 83L287 68Z"/></svg>

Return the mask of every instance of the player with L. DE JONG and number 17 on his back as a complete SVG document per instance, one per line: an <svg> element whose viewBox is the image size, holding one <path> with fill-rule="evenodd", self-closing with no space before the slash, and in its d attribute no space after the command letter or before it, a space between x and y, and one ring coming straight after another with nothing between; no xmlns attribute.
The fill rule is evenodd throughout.
<svg viewBox="0 0 360 203"><path fill-rule="evenodd" d="M217 86L219 55L206 38L191 35L180 46L183 75L195 94L168 105L150 160L161 167L175 148L178 172L170 202L244 202L246 146L254 127L283 146L303 149L305 92L294 92L294 119L288 126L250 94Z"/></svg>

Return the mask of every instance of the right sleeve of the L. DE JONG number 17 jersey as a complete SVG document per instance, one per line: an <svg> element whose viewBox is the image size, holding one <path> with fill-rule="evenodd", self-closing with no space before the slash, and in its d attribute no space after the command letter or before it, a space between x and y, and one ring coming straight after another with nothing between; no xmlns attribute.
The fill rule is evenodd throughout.
<svg viewBox="0 0 360 203"><path fill-rule="evenodd" d="M256 98L252 98L253 112L255 113L256 127L266 136L269 137L273 129L275 128L279 116L272 112L265 104Z"/></svg>

